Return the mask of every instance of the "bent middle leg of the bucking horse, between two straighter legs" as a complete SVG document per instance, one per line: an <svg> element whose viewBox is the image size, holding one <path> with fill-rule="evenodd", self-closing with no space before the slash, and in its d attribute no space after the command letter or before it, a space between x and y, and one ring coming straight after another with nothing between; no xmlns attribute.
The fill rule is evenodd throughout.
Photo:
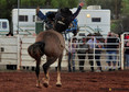
<svg viewBox="0 0 129 92"><path fill-rule="evenodd" d="M49 87L49 81L50 81L49 68L56 59L57 59L56 57L46 57L47 61L43 65L43 70L44 70L44 74L45 74L45 78L43 79L43 81L44 81L43 85L45 88Z"/></svg>

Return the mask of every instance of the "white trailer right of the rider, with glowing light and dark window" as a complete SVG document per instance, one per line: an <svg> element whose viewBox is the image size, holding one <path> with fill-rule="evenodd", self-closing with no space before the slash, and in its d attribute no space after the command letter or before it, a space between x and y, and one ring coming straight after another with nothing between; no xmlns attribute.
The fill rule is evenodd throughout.
<svg viewBox="0 0 129 92"><path fill-rule="evenodd" d="M76 11L76 9L74 9ZM110 10L83 9L77 16L80 33L97 33L103 35L110 32ZM79 35L79 34L78 34Z"/></svg>

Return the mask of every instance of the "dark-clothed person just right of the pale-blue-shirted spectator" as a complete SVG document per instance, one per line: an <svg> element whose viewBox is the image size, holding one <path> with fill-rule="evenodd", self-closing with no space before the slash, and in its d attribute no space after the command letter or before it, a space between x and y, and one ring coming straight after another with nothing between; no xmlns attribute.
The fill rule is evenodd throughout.
<svg viewBox="0 0 129 92"><path fill-rule="evenodd" d="M95 50L95 59L96 59L96 62L97 62L97 66L98 66L98 69L97 71L100 72L103 71L101 70L101 65L100 65L100 54L101 54L101 48L103 48L103 45L100 45L100 41L99 39L96 39L96 50Z"/></svg>

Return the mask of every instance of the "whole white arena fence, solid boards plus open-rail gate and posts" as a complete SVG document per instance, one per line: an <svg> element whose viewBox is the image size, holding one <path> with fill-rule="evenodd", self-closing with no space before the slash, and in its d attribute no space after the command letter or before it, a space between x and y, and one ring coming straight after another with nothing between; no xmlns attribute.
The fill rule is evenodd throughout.
<svg viewBox="0 0 129 92"><path fill-rule="evenodd" d="M117 54L114 54L111 56L116 56L116 67L123 69L125 68L125 49L129 48L129 47L125 47L125 42L127 42L128 39L125 39L125 34L129 34L129 33L123 33L121 35L121 39L119 39L119 43L99 43L100 45L103 45L103 48L94 48L93 49L93 54L86 53L84 54L84 56L86 57L84 59L85 65L84 66L79 66L79 60L83 59L78 59L79 55L83 54L77 54L75 53L75 67L76 69L78 69L79 67L84 67L85 69L90 69L90 65L89 65L89 60L94 61L93 67L95 67L95 69L97 69L97 65L96 61L100 60L101 62L101 67L103 69L106 69L108 67L107 65L107 50L116 50ZM82 37L78 37L79 39ZM90 38L90 37L88 37ZM97 38L101 38L101 37L97 37ZM105 37L106 38L106 37ZM95 39L95 38L94 38ZM35 61L34 59L32 59L29 55L28 55L28 47L35 42L35 36L11 36L11 37L7 37L7 36L0 36L0 65L17 65L18 69L20 69L23 66L33 66L35 67ZM68 50L68 42L66 41L66 49ZM72 45L72 41L71 41L71 45ZM82 45L82 42L77 42L77 45ZM86 43L87 44L87 43ZM96 43L93 44L94 46L96 45ZM117 49L115 48L106 48L105 45L119 45L119 47ZM71 46L72 47L72 46ZM71 48L72 49L72 48ZM80 48L75 48L75 50L78 50ZM82 48L83 50L85 48ZM67 56L67 50L64 50L64 57L63 57L63 61L62 61L62 66L67 68L68 67L68 56ZM101 50L101 54L96 54L96 50ZM93 59L89 59L88 56L93 56ZM100 56L100 59L96 59L96 56ZM42 64L45 62L46 57L43 56L42 57ZM110 61L112 61L114 59L111 59ZM55 64L52 65L52 67L56 67L57 66L57 61Z"/></svg>

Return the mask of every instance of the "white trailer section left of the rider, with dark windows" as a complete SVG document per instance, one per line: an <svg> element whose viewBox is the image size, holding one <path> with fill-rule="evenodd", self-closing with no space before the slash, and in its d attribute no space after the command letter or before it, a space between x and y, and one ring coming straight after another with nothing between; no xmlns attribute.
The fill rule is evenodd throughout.
<svg viewBox="0 0 129 92"><path fill-rule="evenodd" d="M41 9L45 14L47 11L57 11L57 9ZM12 25L13 33L17 34L18 22L19 22L19 33L20 34L33 34L35 33L35 22L40 21L36 18L35 9L19 9L19 21L18 21L18 9L12 10Z"/></svg>

